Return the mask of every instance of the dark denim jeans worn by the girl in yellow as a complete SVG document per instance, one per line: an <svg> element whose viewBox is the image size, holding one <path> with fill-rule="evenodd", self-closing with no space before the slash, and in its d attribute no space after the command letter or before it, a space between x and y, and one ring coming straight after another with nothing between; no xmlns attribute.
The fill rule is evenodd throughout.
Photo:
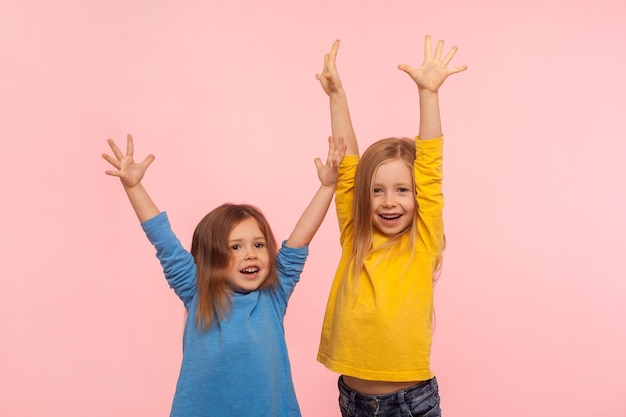
<svg viewBox="0 0 626 417"><path fill-rule="evenodd" d="M339 377L339 408L343 417L441 417L437 379L385 395L353 391Z"/></svg>

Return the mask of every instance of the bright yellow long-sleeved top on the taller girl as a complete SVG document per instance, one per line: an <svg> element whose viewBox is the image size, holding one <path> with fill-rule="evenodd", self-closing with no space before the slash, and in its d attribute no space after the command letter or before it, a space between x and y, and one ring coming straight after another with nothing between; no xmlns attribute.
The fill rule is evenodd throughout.
<svg viewBox="0 0 626 417"><path fill-rule="evenodd" d="M405 233L391 247L375 249L357 280L346 274L352 252L352 202L357 155L339 167L335 202L342 256L331 288L317 359L328 369L376 381L418 381L433 377L433 274L443 249L443 137L416 138L417 239ZM373 247L387 241L374 233Z"/></svg>

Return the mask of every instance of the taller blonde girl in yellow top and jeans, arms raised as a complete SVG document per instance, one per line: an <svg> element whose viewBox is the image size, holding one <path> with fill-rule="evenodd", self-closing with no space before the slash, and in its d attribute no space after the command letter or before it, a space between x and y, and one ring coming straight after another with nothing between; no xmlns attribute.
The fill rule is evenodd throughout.
<svg viewBox="0 0 626 417"><path fill-rule="evenodd" d="M419 68L398 68L417 84L415 140L388 138L359 157L345 91L335 65L339 41L317 75L330 99L334 137L343 137L335 195L342 255L318 360L339 373L345 416L440 416L430 369L433 280L445 245L438 90L466 66L448 67L457 48L433 53L426 36Z"/></svg>

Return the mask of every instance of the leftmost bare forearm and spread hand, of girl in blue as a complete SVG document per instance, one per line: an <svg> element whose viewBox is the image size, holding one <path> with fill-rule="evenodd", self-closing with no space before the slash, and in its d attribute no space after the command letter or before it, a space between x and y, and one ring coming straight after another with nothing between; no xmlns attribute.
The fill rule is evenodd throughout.
<svg viewBox="0 0 626 417"><path fill-rule="evenodd" d="M126 155L120 151L113 139L109 139L108 142L115 158L107 154L102 154L102 157L113 165L116 170L107 170L104 173L120 179L140 222L144 222L159 214L159 209L141 184L141 179L146 170L154 161L154 155L148 155L141 163L135 162L133 159L135 150L133 137L130 134L126 137Z"/></svg>

